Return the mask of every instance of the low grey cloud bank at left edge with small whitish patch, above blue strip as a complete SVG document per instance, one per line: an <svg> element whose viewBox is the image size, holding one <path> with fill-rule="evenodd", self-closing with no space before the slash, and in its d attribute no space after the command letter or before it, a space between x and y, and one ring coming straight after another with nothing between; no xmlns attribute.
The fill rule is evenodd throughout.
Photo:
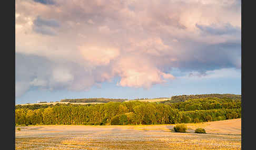
<svg viewBox="0 0 256 150"><path fill-rule="evenodd" d="M85 91L104 82L100 74L107 68L85 70L84 66L70 61L52 61L36 55L15 53L16 97L29 89Z"/></svg>

